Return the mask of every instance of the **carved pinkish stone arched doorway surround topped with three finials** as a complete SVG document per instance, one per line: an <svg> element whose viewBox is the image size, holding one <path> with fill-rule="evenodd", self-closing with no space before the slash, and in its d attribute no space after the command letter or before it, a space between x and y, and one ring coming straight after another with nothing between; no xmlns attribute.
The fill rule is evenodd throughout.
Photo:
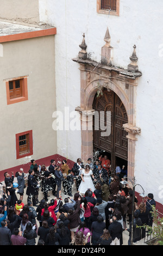
<svg viewBox="0 0 163 256"><path fill-rule="evenodd" d="M90 117L95 113L92 106L96 93L102 92L105 88L120 98L128 117L128 121L125 120L122 124L128 141L127 155L123 155L122 159L124 156L127 157L128 176L133 178L135 175L135 143L137 135L140 135L141 132L140 127L136 126L136 87L142 73L137 66L138 58L135 45L127 69L113 64L114 56L110 40L107 28L104 37L105 45L101 48L101 61L97 63L87 57L87 45L85 44L85 34L83 34L82 44L79 45L82 50L79 51L78 58L72 59L79 64L80 70L80 106L76 107L76 111L80 113L81 128L90 127L92 125ZM93 131L81 129L81 141L81 157L86 162L87 158L93 157ZM116 157L121 159L120 155L116 155Z"/></svg>

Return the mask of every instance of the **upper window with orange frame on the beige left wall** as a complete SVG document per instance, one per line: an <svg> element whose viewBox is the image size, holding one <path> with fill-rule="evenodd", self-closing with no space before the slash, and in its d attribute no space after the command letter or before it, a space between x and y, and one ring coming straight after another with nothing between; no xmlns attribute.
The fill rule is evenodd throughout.
<svg viewBox="0 0 163 256"><path fill-rule="evenodd" d="M7 105L28 100L27 76L4 80L7 92Z"/></svg>

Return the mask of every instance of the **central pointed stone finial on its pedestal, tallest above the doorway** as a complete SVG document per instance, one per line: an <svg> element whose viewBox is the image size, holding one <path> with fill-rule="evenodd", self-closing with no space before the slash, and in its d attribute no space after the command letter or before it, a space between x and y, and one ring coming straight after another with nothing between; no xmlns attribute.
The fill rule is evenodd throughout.
<svg viewBox="0 0 163 256"><path fill-rule="evenodd" d="M102 47L101 50L101 64L110 66L112 64L113 58L113 48L110 46L110 34L109 29L107 27L104 41L106 42L105 45Z"/></svg>

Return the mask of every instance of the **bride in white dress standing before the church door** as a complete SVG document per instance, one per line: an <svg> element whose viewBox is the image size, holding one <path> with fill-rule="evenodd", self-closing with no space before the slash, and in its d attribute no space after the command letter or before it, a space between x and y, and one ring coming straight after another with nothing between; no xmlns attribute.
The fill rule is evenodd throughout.
<svg viewBox="0 0 163 256"><path fill-rule="evenodd" d="M93 184L92 178L94 179L93 172L90 170L89 164L86 164L85 169L82 169L80 174L82 181L78 188L80 194L85 194L85 192L90 188L91 191L95 191L95 186ZM91 178L92 176L92 178Z"/></svg>

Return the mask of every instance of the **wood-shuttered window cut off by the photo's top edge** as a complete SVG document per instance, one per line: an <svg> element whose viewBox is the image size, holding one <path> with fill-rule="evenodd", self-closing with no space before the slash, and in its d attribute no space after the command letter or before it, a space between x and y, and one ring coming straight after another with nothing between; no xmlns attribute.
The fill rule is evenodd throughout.
<svg viewBox="0 0 163 256"><path fill-rule="evenodd" d="M97 13L119 16L120 0L97 0Z"/></svg>

